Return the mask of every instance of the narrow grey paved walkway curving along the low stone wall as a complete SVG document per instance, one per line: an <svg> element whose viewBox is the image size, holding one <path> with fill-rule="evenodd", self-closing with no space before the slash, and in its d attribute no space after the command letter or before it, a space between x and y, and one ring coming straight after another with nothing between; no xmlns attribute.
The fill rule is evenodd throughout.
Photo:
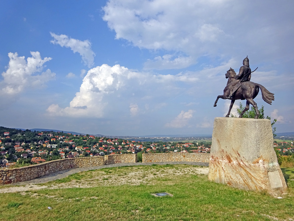
<svg viewBox="0 0 294 221"><path fill-rule="evenodd" d="M152 164L159 164L159 165L165 165L165 164L189 164L189 165L198 165L198 166L208 166L208 163L201 163L201 162L153 162L153 163L119 163L119 164L109 164L109 165L103 165L103 166L90 166L90 167L80 167L80 168L72 168L72 169L66 169L57 171L55 173L51 173L48 175L45 175L43 177L39 177L36 179L27 180L24 182L18 182L10 185L29 185L29 184L39 184L39 183L46 183L52 180L61 179L64 177L67 177L71 174L75 174L81 171L88 171L88 170L95 170L95 169L102 169L102 168L109 168L109 167L118 167L118 166L143 166L143 165L152 165Z"/></svg>

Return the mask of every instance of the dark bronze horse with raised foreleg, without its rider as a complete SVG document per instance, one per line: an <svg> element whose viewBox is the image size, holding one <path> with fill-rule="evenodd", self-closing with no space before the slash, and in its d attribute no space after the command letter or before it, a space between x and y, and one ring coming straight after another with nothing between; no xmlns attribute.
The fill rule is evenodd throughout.
<svg viewBox="0 0 294 221"><path fill-rule="evenodd" d="M225 74L225 78L228 78L227 86L223 90L223 95L218 95L213 106L216 107L216 103L218 102L219 98L231 100L230 108L226 117L230 115L235 100L246 100L246 107L241 112L239 117L242 117L243 114L247 110L249 110L249 104L251 104L254 107L256 113L254 119L257 119L259 116L259 111L253 99L258 95L259 89L261 90L262 99L266 103L271 105L272 100L275 100L274 94L270 93L265 87L263 87L260 84L251 81L238 83L239 80L236 79L236 72L232 68L230 68L230 70L227 71L227 73ZM240 84L241 86L236 90L235 93L233 93L233 95L230 96L230 93L232 91L231 88L234 84Z"/></svg>

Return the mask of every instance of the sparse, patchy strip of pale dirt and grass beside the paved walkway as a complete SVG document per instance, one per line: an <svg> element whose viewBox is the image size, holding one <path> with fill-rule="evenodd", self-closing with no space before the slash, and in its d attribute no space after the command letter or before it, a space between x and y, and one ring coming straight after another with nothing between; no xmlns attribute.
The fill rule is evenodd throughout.
<svg viewBox="0 0 294 221"><path fill-rule="evenodd" d="M39 189L89 188L97 186L119 186L154 184L154 180L168 180L169 183L182 175L207 175L208 167L188 165L173 166L129 166L112 167L92 171L80 172L66 178L48 182L44 185L30 184L28 186L14 186L1 188L0 193L26 192Z"/></svg>

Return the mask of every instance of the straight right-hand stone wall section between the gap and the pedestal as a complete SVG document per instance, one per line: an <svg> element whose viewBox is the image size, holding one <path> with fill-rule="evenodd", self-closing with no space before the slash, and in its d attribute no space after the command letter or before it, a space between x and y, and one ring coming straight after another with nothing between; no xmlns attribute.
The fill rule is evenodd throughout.
<svg viewBox="0 0 294 221"><path fill-rule="evenodd" d="M205 153L161 153L161 154L142 154L142 162L204 162L208 163L210 154Z"/></svg>

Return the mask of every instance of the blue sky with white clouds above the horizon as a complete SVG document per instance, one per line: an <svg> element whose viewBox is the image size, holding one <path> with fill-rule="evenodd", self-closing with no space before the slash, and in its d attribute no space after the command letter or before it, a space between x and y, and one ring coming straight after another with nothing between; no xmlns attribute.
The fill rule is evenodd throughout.
<svg viewBox="0 0 294 221"><path fill-rule="evenodd" d="M117 136L211 134L248 55L294 131L294 1L1 1L0 125ZM240 101L235 102L235 107ZM245 105L245 101L242 101ZM232 113L236 114L235 107Z"/></svg>

